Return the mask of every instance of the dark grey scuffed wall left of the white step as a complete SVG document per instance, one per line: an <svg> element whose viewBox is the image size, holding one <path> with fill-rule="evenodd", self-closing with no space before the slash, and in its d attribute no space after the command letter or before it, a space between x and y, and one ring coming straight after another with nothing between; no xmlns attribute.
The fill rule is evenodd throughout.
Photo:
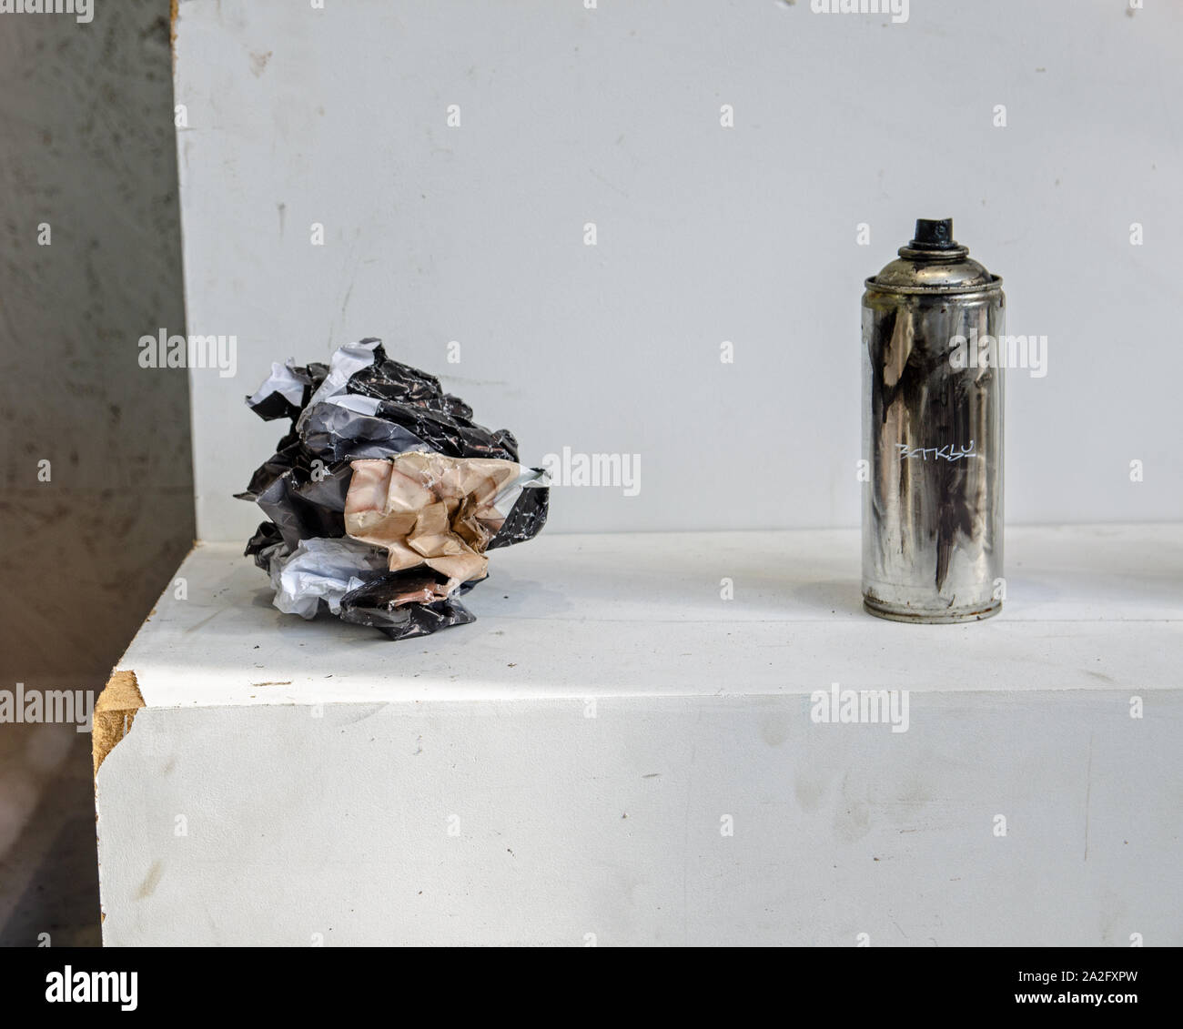
<svg viewBox="0 0 1183 1029"><path fill-rule="evenodd" d="M101 690L192 543L187 378L136 362L183 319L168 0L0 15L0 688ZM43 932L98 941L90 737L0 724L0 943Z"/></svg>

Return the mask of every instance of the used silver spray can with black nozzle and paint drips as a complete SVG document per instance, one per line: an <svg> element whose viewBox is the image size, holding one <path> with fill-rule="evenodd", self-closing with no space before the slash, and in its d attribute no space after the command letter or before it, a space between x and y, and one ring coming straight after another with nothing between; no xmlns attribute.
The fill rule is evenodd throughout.
<svg viewBox="0 0 1183 1029"><path fill-rule="evenodd" d="M866 609L965 622L1002 608L1002 279L953 241L916 239L862 295Z"/></svg>

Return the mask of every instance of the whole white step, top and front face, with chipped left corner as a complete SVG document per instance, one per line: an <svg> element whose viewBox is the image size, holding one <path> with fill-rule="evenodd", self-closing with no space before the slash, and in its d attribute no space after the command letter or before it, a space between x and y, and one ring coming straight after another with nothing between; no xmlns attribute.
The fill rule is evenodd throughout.
<svg viewBox="0 0 1183 1029"><path fill-rule="evenodd" d="M1011 529L968 626L864 614L855 532L543 535L397 643L240 549L97 719L109 945L1183 944L1177 525Z"/></svg>

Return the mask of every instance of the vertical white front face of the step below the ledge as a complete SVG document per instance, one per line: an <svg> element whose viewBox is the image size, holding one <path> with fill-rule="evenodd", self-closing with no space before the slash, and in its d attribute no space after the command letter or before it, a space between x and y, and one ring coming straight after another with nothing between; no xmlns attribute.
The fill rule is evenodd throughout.
<svg viewBox="0 0 1183 1029"><path fill-rule="evenodd" d="M103 941L1178 946L1181 699L150 707L98 772Z"/></svg>

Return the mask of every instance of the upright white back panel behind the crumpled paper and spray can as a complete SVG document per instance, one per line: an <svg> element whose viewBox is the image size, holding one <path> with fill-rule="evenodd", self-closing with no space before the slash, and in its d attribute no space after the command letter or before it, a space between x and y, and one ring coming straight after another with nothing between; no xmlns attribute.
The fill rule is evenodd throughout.
<svg viewBox="0 0 1183 1029"><path fill-rule="evenodd" d="M200 535L259 520L230 494L279 435L243 405L269 363L366 335L528 462L641 454L555 530L854 525L862 279L949 215L1048 336L1009 520L1179 517L1183 7L1127 6L182 2L188 326L239 344L192 373Z"/></svg>

